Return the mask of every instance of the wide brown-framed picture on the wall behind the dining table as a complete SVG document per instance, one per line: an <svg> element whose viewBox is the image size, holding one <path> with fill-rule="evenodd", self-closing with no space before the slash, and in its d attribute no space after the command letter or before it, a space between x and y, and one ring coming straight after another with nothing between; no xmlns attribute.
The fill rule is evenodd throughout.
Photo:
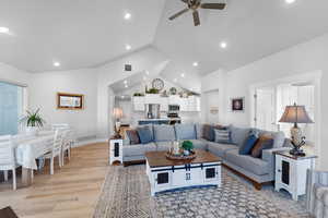
<svg viewBox="0 0 328 218"><path fill-rule="evenodd" d="M57 109L59 110L83 110L84 95L57 93Z"/></svg>

